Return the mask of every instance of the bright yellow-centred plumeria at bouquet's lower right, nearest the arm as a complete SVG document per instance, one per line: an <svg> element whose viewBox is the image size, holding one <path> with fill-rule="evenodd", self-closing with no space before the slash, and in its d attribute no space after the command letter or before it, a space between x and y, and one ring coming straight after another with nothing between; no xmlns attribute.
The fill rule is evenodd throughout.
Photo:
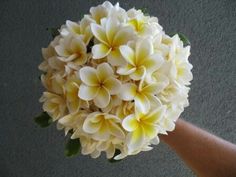
<svg viewBox="0 0 236 177"><path fill-rule="evenodd" d="M126 142L130 153L157 136L158 123L163 119L165 110L166 108L162 106L147 114L131 114L123 120L122 126L129 132Z"/></svg>

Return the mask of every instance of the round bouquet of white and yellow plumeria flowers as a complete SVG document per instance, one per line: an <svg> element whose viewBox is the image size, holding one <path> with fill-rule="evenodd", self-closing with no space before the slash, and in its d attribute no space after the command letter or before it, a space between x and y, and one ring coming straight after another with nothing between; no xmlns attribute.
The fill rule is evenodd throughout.
<svg viewBox="0 0 236 177"><path fill-rule="evenodd" d="M56 32L56 33L55 33ZM106 1L79 22L67 20L42 49L44 112L69 136L66 154L119 160L148 151L188 106L192 65L182 35L156 17Z"/></svg>

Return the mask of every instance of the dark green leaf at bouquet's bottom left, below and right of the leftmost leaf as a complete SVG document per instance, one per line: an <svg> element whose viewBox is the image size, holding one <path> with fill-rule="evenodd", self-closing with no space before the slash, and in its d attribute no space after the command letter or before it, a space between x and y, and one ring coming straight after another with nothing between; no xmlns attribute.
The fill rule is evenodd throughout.
<svg viewBox="0 0 236 177"><path fill-rule="evenodd" d="M77 139L69 139L65 146L65 156L74 157L79 153L80 150L80 140Z"/></svg>

